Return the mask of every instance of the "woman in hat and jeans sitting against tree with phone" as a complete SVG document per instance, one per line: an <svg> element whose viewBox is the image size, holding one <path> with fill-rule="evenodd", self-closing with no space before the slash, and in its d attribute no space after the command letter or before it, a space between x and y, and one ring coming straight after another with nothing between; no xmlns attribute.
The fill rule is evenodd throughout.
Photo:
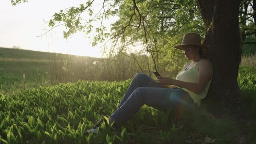
<svg viewBox="0 0 256 144"><path fill-rule="evenodd" d="M115 126L125 123L144 104L158 110L175 110L179 104L191 108L200 106L212 81L212 64L204 59L208 46L201 44L200 35L194 32L184 35L181 45L174 46L184 51L188 62L183 66L176 79L157 76L157 81L146 74L137 74L127 89L118 109L108 118ZM97 132L101 126L95 125L87 133Z"/></svg>

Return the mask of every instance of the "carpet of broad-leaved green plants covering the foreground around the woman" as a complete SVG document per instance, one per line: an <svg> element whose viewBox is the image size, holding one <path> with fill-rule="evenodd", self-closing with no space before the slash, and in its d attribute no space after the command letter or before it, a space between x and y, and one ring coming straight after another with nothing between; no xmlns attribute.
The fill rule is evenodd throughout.
<svg viewBox="0 0 256 144"><path fill-rule="evenodd" d="M130 82L79 81L26 90L11 96L1 95L2 141L179 144L186 140L203 143L206 138L211 138L216 144L224 144L226 141L234 142L238 135L238 129L228 116L216 120L200 114L181 122L169 117L168 112L148 106L143 106L123 128L115 132L103 126L99 134L86 135L85 130L103 115L109 116L117 109Z"/></svg>

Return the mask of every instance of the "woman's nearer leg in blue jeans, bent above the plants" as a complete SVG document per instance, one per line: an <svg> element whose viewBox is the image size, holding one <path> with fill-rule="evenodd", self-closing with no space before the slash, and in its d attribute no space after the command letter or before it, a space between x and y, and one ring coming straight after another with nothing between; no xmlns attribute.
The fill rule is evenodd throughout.
<svg viewBox="0 0 256 144"><path fill-rule="evenodd" d="M187 100L184 101L184 97ZM144 104L158 110L175 109L178 104L188 107L196 106L194 101L189 98L189 94L181 88L139 87L132 92L120 108L115 110L110 118L115 120L117 125L121 125L129 120Z"/></svg>

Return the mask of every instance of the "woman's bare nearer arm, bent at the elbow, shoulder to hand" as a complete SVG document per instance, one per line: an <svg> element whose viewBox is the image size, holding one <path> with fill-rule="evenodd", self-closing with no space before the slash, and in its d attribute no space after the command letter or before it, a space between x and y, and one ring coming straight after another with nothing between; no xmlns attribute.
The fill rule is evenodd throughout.
<svg viewBox="0 0 256 144"><path fill-rule="evenodd" d="M198 66L197 82L183 82L169 77L157 77L159 84L175 85L181 88L186 88L191 92L201 93L206 87L207 82L212 77L212 65L208 60L202 61Z"/></svg>

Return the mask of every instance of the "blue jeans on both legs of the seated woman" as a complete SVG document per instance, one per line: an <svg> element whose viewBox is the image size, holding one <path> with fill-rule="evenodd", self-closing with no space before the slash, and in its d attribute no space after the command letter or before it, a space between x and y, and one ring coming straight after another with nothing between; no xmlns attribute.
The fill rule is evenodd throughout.
<svg viewBox="0 0 256 144"><path fill-rule="evenodd" d="M125 92L118 109L110 116L117 125L124 124L144 104L158 110L175 110L180 104L195 107L189 93L181 88L161 88L156 80L147 74L138 73Z"/></svg>

